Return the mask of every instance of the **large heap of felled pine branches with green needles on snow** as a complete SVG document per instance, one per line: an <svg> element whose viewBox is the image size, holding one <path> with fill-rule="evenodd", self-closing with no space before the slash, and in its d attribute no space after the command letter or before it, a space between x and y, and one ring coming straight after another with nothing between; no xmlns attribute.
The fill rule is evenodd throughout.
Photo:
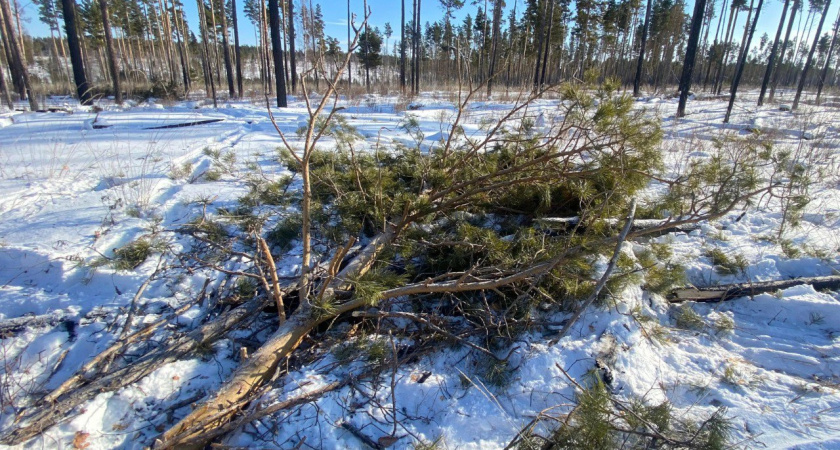
<svg viewBox="0 0 840 450"><path fill-rule="evenodd" d="M624 241L719 218L756 196L773 195L777 185L773 170L772 176L758 175L762 165L772 169L774 160L752 141L722 145L720 157L664 176L658 123L610 82L523 95L480 134L463 126L482 89L472 87L460 97L440 142L407 147L377 141L372 150L360 151L360 136L336 115L342 70L334 73L317 103L311 99L316 97L303 97L309 122L299 131L302 144L293 146L281 133L282 159L294 177L255 183L251 201L228 214L241 218L239 235L206 218L180 230L197 245L179 259L246 280L243 285L253 284L252 295L204 302L203 292L197 299L204 310L200 326L166 331L168 338L156 341L162 344L142 346L140 356L129 350L163 333L179 311L125 333L20 411L0 442L25 442L94 396L189 358L266 311L274 314L268 338L243 353L217 391L149 445L203 447L259 417L312 401L319 393L243 414L284 373L281 362L337 321L406 319L419 330L503 361L513 337L534 326L535 308L569 311L568 330L605 289L615 289L611 283L621 277L611 275L620 266ZM561 103L553 120L537 126L527 111L547 91ZM404 125L416 132L413 126ZM335 143L334 150L318 150L325 138ZM289 189L293 181L302 183L300 191ZM652 182L665 185L667 194L637 206L632 199ZM253 212L271 201L299 213L270 218L277 226L264 232ZM552 216L575 220L559 231L537 220ZM645 227L632 226L637 216L647 219ZM281 278L275 256L290 241L301 244L302 269L299 276ZM612 254L605 273L595 269L599 254ZM245 267L230 269L232 260ZM396 303L411 305L412 312L392 307ZM388 364L412 361L392 353ZM321 394L350 382L333 383Z"/></svg>

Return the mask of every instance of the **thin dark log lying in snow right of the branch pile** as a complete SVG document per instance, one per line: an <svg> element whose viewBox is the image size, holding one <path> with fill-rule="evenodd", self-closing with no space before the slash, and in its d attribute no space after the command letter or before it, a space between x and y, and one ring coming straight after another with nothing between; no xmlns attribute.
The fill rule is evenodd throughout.
<svg viewBox="0 0 840 450"><path fill-rule="evenodd" d="M702 302L716 303L739 297L751 297L780 289L810 284L814 289L840 289L840 276L793 278L781 281L764 281L760 283L736 283L705 288L676 289L668 295L670 303Z"/></svg>

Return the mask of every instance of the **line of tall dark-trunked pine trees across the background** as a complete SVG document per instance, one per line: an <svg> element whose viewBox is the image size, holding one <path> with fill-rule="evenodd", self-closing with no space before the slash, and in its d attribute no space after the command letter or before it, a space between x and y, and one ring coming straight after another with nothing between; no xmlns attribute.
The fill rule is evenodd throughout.
<svg viewBox="0 0 840 450"><path fill-rule="evenodd" d="M214 100L268 94L282 106L301 82L320 89L348 50L344 79L367 91L486 83L490 93L617 78L637 94L663 92L681 82L687 61L694 90L716 94L746 83L772 99L777 86L837 83L840 22L823 26L830 0L786 0L781 17L762 17L778 20L775 36L755 39L762 0L697 0L694 14L685 0L402 0L400 23L382 29L365 20L366 2L354 11L348 1L350 49L325 34L312 0L240 0L245 17L236 0L196 0L196 17L180 0L33 1L49 37L28 38L17 2L0 0L0 90L9 104L73 86L83 102L204 92ZM441 19L421 23L423 8L440 10ZM242 20L253 25L256 46L239 44Z"/></svg>

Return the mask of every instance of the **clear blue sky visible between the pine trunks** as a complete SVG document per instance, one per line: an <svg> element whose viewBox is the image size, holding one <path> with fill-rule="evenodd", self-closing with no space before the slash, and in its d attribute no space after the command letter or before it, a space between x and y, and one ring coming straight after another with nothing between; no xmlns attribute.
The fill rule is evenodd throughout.
<svg viewBox="0 0 840 450"><path fill-rule="evenodd" d="M24 8L24 16L27 19L27 23L25 27L29 30L29 32L35 36L44 36L49 35L48 28L42 24L37 18L37 8L35 5L32 4L30 0L18 0L21 6ZM308 0L307 4L308 4ZM711 0L709 0L711 1ZM758 0L756 1L756 5L758 4ZM297 2L297 0L296 0ZM513 8L514 3L517 3L517 13L524 9L524 0L507 0L507 9ZM245 19L245 15L242 12L242 7L244 5L244 0L237 1L237 7L240 12L240 21L239 21L239 35L240 40L243 44L253 44L256 41L254 35L254 27L251 23ZM347 40L347 2L346 1L314 1L312 2L313 5L320 3L321 9L324 14L324 21L326 24L326 34L335 38L338 38L342 43L346 42ZM300 5L300 3L297 3ZM361 16L362 14L362 0L350 0L350 8L351 11ZM391 23L391 27L394 29L394 36L391 37L389 44L393 46L395 39L399 39L399 22L400 22L400 2L399 0L369 0L368 5L371 10L371 18L370 22L372 26L378 26L380 29L384 27L386 22ZM467 2L466 6L461 9L456 14L456 21L461 21L463 17L467 14L471 14L473 17L475 16L475 12L478 9L478 6L481 5L482 8L484 7L484 2L481 1L479 4L473 5ZM690 14L692 12L694 6L694 2L689 1L687 6L687 13ZM717 6L720 9L722 6L722 0L718 0ZM411 10L411 0L406 0L406 18L410 18L410 10ZM191 28L194 30L196 29L197 20L195 17L197 16L196 13L196 2L186 0L185 1L185 8L188 15L188 20L190 20ZM298 6L299 8L299 6ZM837 17L837 11L840 8L840 0L834 0L831 8L829 9L829 16L826 19L826 23L823 26L823 33L830 32L831 26L834 23L834 20ZM507 13L506 13L507 14ZM767 33L770 38L772 39L776 33L776 27L779 24L779 18L782 14L782 1L781 0L765 0L765 5L762 8L761 16L759 18L758 28L756 29L756 34L754 38L754 44L758 42L761 35L763 33ZM425 24L425 22L433 22L435 20L440 20L443 16L443 9L440 6L440 2L438 0L424 0L422 2L422 11L421 11L421 20ZM740 16L739 21L739 29L740 32L736 32L736 38L740 39L740 36L743 32L743 23L746 20L746 14L742 13ZM798 20L798 19L797 19ZM713 22L713 26L716 25L717 22ZM724 24L725 25L725 24ZM804 27L804 25L803 25ZM814 26L816 28L816 25ZM712 29L712 35L714 35L714 28ZM794 29L795 31L795 29ZM197 33L196 33L197 34ZM710 38L711 39L711 38Z"/></svg>

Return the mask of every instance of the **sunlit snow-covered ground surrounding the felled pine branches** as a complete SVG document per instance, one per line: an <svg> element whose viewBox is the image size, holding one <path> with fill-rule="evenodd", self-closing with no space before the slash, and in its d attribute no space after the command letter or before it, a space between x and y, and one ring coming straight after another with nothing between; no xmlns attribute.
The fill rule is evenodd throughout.
<svg viewBox="0 0 840 450"><path fill-rule="evenodd" d="M813 174L811 202L801 223L787 229L784 240L773 239L782 213L775 203L758 201L703 223L699 230L655 240L671 244L689 281L698 286L837 274L840 111L804 106L792 114L773 106L759 109L754 96L744 98L727 126L721 123L726 108L721 101L691 101L688 116L680 120L673 117L674 99L646 99L638 107L662 120L668 170L708 157L713 140L746 135L747 128L812 157L820 171ZM369 144L414 142L416 136L400 128L406 116L414 116L424 144L435 145L452 120L453 105L431 95L415 104L397 112L396 99L370 98L340 103L344 109L339 114ZM509 108L504 102L476 102L465 130L479 133ZM540 100L528 113L539 122L556 108L556 101ZM293 141L307 118L299 100L273 114L277 127ZM208 119L221 120L159 128ZM186 224L202 214L204 205L209 205L208 214L235 207L248 192L247 174L288 175L277 161L281 144L265 107L246 102L218 109L191 102L168 108L153 103L106 106L98 114L78 107L72 113L0 113L0 319L66 316L54 326L0 340L0 430L9 429L28 395L57 387L117 338L132 298L160 258L153 256L134 271L93 269L91 263L112 257L115 248L154 227ZM208 181L208 172L218 177ZM655 192L651 187L650 194ZM169 239L175 247L188 245L176 235ZM634 248L627 244L624 250ZM731 258L741 256L746 270L720 275L707 256L714 248ZM281 275L294 274L298 263L291 251L278 261ZM151 323L194 299L209 275L155 278L140 300L142 314L135 325ZM213 276L211 289L221 278ZM574 399L574 389L558 367L582 379L596 359L607 358L616 395L654 403L668 399L681 417L702 417L725 406L734 425L733 442L740 446L840 448L838 293L798 286L683 307L693 308L705 325L677 328L678 307L631 286L612 307L590 308L563 339L536 330L522 336L511 357L515 370L503 388L485 385L474 375L468 349L441 351L399 369L393 397L390 376L382 386L345 387L248 425L227 444L288 448L305 438L305 447L360 448L363 444L341 424L350 423L374 440L390 435L393 417L383 411L395 401L397 448L420 442L437 442L439 448L503 448L542 411L568 411L561 406ZM177 322L189 326L198 309L188 309ZM733 327L721 325L727 319ZM139 383L103 393L26 446L149 445L186 414L191 399L226 379L236 367L236 349L224 340L209 355L168 364ZM262 401L298 396L354 369L358 364L338 365L328 353L278 379ZM175 404L184 407L174 415L161 414Z"/></svg>

